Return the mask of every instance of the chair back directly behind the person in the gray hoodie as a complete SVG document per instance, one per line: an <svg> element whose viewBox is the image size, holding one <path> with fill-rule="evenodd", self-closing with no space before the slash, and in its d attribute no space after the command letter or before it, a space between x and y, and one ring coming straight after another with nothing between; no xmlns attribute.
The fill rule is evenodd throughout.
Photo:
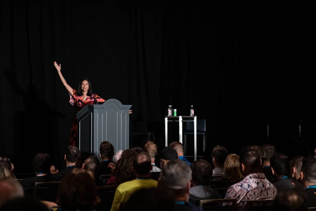
<svg viewBox="0 0 316 211"><path fill-rule="evenodd" d="M229 203L223 205L223 203ZM235 211L237 209L237 199L205 199L199 200L198 206L204 211Z"/></svg>

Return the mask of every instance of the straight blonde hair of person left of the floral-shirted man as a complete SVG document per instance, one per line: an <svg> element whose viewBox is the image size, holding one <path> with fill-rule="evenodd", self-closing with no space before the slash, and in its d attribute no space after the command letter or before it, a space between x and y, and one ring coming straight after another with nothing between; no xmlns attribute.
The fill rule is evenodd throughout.
<svg viewBox="0 0 316 211"><path fill-rule="evenodd" d="M236 154L229 154L224 164L224 177L236 182L243 176L240 171L239 156Z"/></svg>

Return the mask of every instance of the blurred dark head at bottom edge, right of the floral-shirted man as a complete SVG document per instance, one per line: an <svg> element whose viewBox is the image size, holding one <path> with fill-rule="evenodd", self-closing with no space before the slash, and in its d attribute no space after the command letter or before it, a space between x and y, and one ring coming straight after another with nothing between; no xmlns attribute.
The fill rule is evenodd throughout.
<svg viewBox="0 0 316 211"><path fill-rule="evenodd" d="M298 189L288 189L276 195L273 211L307 211L306 195Z"/></svg>

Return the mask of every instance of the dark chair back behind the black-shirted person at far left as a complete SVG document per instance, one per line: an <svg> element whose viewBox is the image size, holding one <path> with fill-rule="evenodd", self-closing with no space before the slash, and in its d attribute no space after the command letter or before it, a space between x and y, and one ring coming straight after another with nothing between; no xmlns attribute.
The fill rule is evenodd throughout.
<svg viewBox="0 0 316 211"><path fill-rule="evenodd" d="M40 201L56 202L61 182L40 182L34 185L34 198Z"/></svg>

